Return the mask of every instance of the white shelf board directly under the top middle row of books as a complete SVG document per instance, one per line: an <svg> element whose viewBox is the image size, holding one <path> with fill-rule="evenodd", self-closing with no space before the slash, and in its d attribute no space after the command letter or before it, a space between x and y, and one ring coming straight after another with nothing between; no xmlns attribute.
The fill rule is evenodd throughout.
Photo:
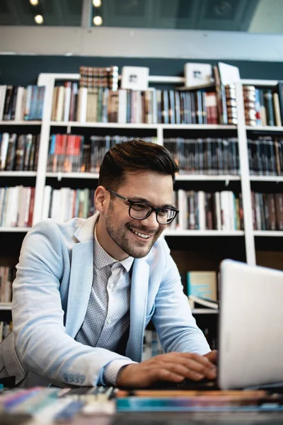
<svg viewBox="0 0 283 425"><path fill-rule="evenodd" d="M52 127L83 127L83 128L162 128L164 130L236 130L236 125L217 124L146 124L146 123L78 123L77 121L51 121Z"/></svg>

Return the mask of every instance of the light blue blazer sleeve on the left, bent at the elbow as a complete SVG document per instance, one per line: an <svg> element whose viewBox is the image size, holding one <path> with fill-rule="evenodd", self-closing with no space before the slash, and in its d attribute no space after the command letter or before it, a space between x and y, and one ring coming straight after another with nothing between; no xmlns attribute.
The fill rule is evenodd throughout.
<svg viewBox="0 0 283 425"><path fill-rule="evenodd" d="M63 253L61 237L56 223L45 220L23 241L13 282L16 353L25 370L50 382L96 385L103 383L105 365L127 357L80 344L65 333L59 285L69 253Z"/></svg>

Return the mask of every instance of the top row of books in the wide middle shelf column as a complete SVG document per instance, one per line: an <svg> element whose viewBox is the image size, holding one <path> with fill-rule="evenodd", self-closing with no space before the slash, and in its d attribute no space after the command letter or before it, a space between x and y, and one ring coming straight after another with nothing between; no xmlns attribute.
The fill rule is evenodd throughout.
<svg viewBox="0 0 283 425"><path fill-rule="evenodd" d="M148 89L91 89L67 81L55 86L52 121L80 123L218 124L216 93ZM226 124L231 122L228 116Z"/></svg>

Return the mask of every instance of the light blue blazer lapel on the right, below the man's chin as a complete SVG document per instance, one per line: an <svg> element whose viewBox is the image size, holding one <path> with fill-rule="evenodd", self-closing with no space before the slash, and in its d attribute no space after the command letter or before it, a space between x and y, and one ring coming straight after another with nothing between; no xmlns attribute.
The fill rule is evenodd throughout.
<svg viewBox="0 0 283 425"><path fill-rule="evenodd" d="M126 356L138 362L141 361L143 348L146 301L149 286L149 265L146 263L145 258L134 260L129 313L129 339L126 348Z"/></svg>

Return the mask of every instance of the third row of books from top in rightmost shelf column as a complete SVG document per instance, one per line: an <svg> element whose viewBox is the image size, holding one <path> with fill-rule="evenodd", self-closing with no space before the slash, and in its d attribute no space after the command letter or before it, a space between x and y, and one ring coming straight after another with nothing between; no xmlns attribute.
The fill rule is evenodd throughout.
<svg viewBox="0 0 283 425"><path fill-rule="evenodd" d="M283 231L283 193L252 192L253 229Z"/></svg>

